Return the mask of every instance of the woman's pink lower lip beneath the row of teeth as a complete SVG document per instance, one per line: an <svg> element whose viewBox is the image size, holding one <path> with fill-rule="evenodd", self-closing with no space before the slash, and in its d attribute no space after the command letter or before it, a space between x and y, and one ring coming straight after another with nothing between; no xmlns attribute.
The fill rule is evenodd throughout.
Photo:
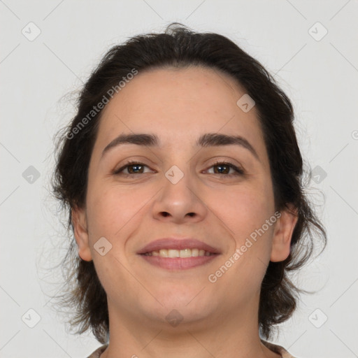
<svg viewBox="0 0 358 358"><path fill-rule="evenodd" d="M198 257L160 257L160 256L147 256L141 255L143 259L154 266L159 266L162 268L166 268L167 270L186 270L187 268L193 268L196 266L201 266L204 264L208 264L215 257L219 256L218 254L210 255L210 256L198 256Z"/></svg>

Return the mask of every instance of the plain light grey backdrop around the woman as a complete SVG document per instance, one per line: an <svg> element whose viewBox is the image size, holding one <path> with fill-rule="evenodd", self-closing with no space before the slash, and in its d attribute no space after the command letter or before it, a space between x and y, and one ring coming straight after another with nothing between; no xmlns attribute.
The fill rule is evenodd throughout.
<svg viewBox="0 0 358 358"><path fill-rule="evenodd" d="M228 36L292 99L328 245L295 279L317 293L301 297L275 342L296 357L358 357L357 18L355 0L0 1L0 357L99 347L70 334L46 295L61 278L46 268L67 243L49 194L53 136L73 115L67 94L111 45L173 21Z"/></svg>

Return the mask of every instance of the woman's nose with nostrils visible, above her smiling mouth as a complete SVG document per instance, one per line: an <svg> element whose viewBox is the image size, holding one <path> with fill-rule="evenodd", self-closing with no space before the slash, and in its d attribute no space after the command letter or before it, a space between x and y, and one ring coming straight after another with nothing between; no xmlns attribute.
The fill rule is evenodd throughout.
<svg viewBox="0 0 358 358"><path fill-rule="evenodd" d="M189 174L185 174L176 183L164 177L163 185L152 206L156 220L182 224L200 222L206 217L207 206Z"/></svg>

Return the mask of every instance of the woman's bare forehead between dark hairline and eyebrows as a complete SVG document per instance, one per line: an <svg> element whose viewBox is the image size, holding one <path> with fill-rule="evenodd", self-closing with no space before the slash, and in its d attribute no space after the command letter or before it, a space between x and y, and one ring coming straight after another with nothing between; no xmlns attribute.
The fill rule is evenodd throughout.
<svg viewBox="0 0 358 358"><path fill-rule="evenodd" d="M95 147L125 132L156 133L163 142L220 132L261 138L255 107L237 106L245 90L226 73L203 67L138 73L103 109ZM184 142L183 142L184 143Z"/></svg>

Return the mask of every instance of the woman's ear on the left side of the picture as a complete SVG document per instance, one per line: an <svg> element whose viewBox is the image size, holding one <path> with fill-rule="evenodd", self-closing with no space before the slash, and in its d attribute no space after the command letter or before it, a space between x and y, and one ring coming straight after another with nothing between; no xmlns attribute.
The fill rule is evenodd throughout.
<svg viewBox="0 0 358 358"><path fill-rule="evenodd" d="M88 240L87 217L85 209L72 208L73 234L78 245L78 255L85 261L92 260L90 244Z"/></svg>

